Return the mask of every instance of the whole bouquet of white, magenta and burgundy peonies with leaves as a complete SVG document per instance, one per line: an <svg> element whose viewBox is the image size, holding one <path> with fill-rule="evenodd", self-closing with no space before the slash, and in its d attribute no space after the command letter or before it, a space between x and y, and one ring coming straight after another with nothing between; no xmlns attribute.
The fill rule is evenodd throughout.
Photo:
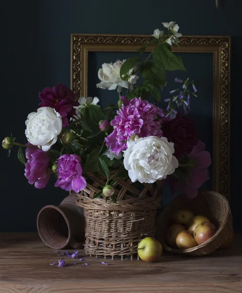
<svg viewBox="0 0 242 293"><path fill-rule="evenodd" d="M30 184L44 188L54 175L56 187L79 192L86 188L90 173L98 178L101 172L106 186L99 186L94 197L110 197L114 203L114 177L141 184L164 180L173 191L196 196L208 179L211 158L187 116L191 98L197 97L193 81L175 78L181 88L163 99L165 108L146 100L149 96L161 100L166 70L186 70L181 57L171 52L182 36L179 26L174 21L163 25L167 33L154 30L154 38L139 49L139 56L104 63L98 70L97 87L116 90L116 105L101 109L97 97L78 98L62 84L39 93L37 112L25 122L28 143L19 144L12 137L2 142L9 155L12 146L19 146L18 158ZM143 61L141 55L149 45L153 50ZM117 171L111 176L110 170Z"/></svg>

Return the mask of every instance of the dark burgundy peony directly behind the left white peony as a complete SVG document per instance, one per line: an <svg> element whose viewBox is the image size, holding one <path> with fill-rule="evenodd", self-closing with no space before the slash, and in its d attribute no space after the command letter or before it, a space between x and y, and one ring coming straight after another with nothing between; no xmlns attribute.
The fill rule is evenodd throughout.
<svg viewBox="0 0 242 293"><path fill-rule="evenodd" d="M70 118L75 114L73 106L78 105L78 102L74 101L73 91L63 84L57 84L53 88L45 87L38 96L42 101L38 107L54 108L62 117L62 126L68 126Z"/></svg>

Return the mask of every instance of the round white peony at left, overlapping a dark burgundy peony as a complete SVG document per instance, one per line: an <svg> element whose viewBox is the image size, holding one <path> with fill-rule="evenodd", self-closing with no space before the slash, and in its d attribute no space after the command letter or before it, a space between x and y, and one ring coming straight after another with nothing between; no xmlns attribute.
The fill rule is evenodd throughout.
<svg viewBox="0 0 242 293"><path fill-rule="evenodd" d="M62 129L61 116L51 107L41 107L37 112L30 113L25 124L28 142L34 146L41 146L44 151L56 143L57 135Z"/></svg>

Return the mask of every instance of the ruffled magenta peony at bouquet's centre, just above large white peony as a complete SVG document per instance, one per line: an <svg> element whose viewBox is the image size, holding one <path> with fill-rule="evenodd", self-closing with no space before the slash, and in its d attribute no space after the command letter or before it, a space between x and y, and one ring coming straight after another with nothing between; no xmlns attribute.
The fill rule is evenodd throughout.
<svg viewBox="0 0 242 293"><path fill-rule="evenodd" d="M116 155L127 149L126 141L132 135L162 136L160 122L156 121L159 116L162 116L162 109L141 98L129 101L127 98L121 97L121 100L123 105L117 111L117 116L111 121L113 131L105 139L106 146L110 146L110 150Z"/></svg>

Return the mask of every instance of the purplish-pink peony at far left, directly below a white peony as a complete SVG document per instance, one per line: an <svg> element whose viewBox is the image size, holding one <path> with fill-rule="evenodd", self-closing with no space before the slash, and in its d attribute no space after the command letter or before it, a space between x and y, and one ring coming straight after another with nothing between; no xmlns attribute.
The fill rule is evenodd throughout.
<svg viewBox="0 0 242 293"><path fill-rule="evenodd" d="M27 147L25 154L28 162L24 175L29 180L29 184L35 184L36 188L45 188L50 179L49 153L40 148Z"/></svg>

